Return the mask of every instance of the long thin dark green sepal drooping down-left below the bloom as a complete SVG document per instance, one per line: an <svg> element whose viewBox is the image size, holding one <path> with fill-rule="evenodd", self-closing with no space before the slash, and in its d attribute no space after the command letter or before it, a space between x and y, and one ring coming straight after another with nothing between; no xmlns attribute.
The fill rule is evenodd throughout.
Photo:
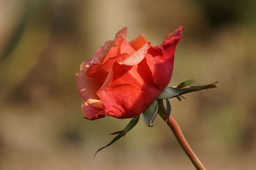
<svg viewBox="0 0 256 170"><path fill-rule="evenodd" d="M102 149L108 147L109 145L115 143L115 141L117 141L118 139L120 139L122 136L125 136L125 134L127 134L127 132L129 132L129 131L138 123L139 119L140 119L140 115L138 115L138 117L132 118L132 120L129 122L128 125L126 125L126 127L124 128L124 130L111 133L111 134L118 134L118 135L117 135L108 145L103 146L102 148L99 148L99 150L97 150L97 152L95 152L94 158L95 158L96 154L97 154L100 150L102 150Z"/></svg>

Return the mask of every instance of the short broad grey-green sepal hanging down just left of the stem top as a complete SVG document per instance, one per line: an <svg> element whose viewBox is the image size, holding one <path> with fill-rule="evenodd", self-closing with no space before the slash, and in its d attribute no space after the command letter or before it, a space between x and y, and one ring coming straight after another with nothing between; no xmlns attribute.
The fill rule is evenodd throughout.
<svg viewBox="0 0 256 170"><path fill-rule="evenodd" d="M158 111L158 103L156 100L152 104L150 104L150 106L148 106L148 108L142 113L142 118L144 120L145 125L147 125L148 127L154 126L153 122L156 118L157 111Z"/></svg>

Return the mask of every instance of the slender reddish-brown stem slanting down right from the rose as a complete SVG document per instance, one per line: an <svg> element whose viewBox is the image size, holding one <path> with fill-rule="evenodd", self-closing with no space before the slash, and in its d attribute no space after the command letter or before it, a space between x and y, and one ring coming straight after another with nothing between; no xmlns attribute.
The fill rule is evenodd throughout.
<svg viewBox="0 0 256 170"><path fill-rule="evenodd" d="M157 100L157 102L158 102L158 105L159 105L159 110L158 110L159 115L165 121L167 111L166 111L166 108L164 108L163 100ZM179 125L177 124L175 119L172 117L172 115L170 115L170 117L168 118L166 123L168 124L170 129L172 129L172 132L173 132L175 138L179 141L180 146L182 147L184 152L188 155L189 159L191 160L193 165L196 167L196 169L205 169L203 164L200 162L198 157L196 157L195 153L193 152L193 150L188 145L188 142L186 141Z"/></svg>

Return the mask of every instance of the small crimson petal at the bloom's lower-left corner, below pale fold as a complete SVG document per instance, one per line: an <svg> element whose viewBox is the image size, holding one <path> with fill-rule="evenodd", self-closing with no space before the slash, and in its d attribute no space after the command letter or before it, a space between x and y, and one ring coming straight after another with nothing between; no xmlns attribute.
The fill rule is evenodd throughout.
<svg viewBox="0 0 256 170"><path fill-rule="evenodd" d="M95 120L97 118L102 118L106 116L102 109L94 108L86 103L86 101L83 101L81 110L84 114L84 118L87 118L89 120Z"/></svg>

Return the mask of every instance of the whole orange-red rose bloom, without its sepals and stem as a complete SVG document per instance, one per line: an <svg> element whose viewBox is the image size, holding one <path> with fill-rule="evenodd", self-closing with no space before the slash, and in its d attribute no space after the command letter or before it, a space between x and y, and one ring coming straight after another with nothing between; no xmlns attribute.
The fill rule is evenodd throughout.
<svg viewBox="0 0 256 170"><path fill-rule="evenodd" d="M84 118L133 118L156 100L172 77L182 27L152 46L143 34L127 42L127 27L84 61L76 74Z"/></svg>

